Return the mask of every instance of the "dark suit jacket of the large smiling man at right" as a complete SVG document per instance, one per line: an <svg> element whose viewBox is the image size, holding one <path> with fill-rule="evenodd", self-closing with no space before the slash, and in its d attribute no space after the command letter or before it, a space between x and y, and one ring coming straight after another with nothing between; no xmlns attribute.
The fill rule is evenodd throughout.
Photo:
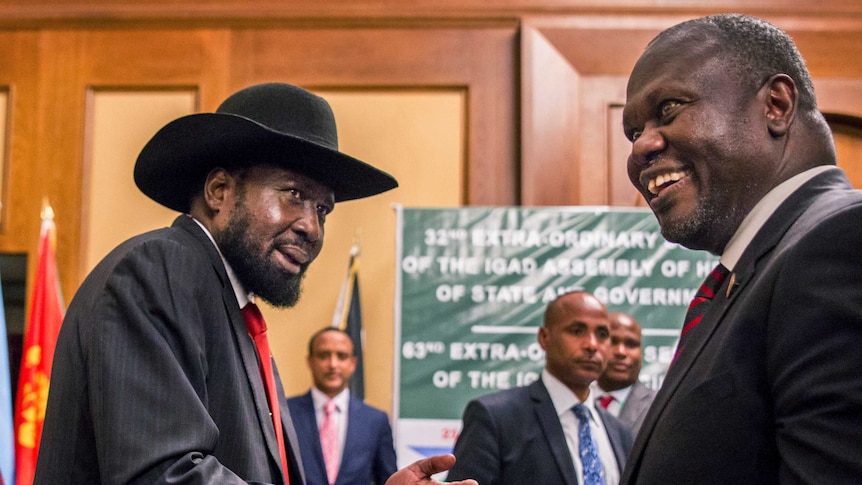
<svg viewBox="0 0 862 485"><path fill-rule="evenodd" d="M689 337L621 483L860 483L862 192L792 194Z"/></svg>

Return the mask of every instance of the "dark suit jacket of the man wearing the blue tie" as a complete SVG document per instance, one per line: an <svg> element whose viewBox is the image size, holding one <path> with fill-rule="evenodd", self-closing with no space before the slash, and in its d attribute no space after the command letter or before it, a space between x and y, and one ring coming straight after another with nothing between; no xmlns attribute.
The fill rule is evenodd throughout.
<svg viewBox="0 0 862 485"><path fill-rule="evenodd" d="M631 436L610 413L598 412L622 467ZM454 453L450 480L474 478L480 485L578 483L560 418L541 379L470 401Z"/></svg>

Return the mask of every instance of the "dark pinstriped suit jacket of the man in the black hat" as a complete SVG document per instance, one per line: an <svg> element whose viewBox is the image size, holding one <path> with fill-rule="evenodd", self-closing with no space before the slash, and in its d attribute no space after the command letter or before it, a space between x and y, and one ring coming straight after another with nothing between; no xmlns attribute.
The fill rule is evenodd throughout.
<svg viewBox="0 0 862 485"><path fill-rule="evenodd" d="M281 416L302 484L286 403ZM283 483L279 461L254 344L204 231L182 215L121 244L61 327L36 483Z"/></svg>

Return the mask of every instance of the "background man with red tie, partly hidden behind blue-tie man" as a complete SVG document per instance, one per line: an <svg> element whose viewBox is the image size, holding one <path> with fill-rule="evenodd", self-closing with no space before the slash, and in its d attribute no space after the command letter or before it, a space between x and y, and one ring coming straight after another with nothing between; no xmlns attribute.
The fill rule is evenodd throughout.
<svg viewBox="0 0 862 485"><path fill-rule="evenodd" d="M608 365L596 381L599 405L636 436L655 391L641 384L641 326L625 313L609 315L611 344Z"/></svg>

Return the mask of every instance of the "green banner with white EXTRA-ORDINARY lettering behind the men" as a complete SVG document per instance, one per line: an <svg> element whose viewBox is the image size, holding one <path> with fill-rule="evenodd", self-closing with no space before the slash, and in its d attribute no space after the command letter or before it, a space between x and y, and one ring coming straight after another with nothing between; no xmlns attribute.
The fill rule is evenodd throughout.
<svg viewBox="0 0 862 485"><path fill-rule="evenodd" d="M398 220L394 414L405 463L451 449L470 399L538 378L537 328L568 291L640 322L640 379L657 388L686 307L718 262L666 242L648 210L399 208Z"/></svg>

